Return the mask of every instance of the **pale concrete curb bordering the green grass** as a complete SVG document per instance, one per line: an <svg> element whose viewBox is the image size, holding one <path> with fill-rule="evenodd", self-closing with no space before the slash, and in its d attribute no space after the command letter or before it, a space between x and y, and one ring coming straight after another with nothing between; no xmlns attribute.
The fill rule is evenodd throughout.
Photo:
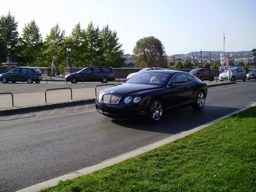
<svg viewBox="0 0 256 192"><path fill-rule="evenodd" d="M188 131L183 131L183 132L177 133L177 134L172 135L170 137L167 137L167 138L165 138L163 140L154 142L154 143L149 144L149 145L147 145L145 147L141 147L141 148L135 149L135 150L130 151L128 153L125 153L123 155L113 157L113 158L108 159L106 161L103 161L103 162L101 162L99 164L96 164L96 165L93 165L93 166L90 166L90 167L86 167L84 169L80 169L80 170L77 170L75 172L71 172L71 173L68 173L66 175L62 175L60 177L57 177L57 178L54 178L54 179L51 179L51 180L47 180L47 181L44 181L42 183L38 183L36 185L32 185L32 186L24 188L24 189L20 189L17 192L35 192L35 191L39 191L40 189L43 189L43 188L46 188L46 187L52 187L52 186L57 185L60 180L64 181L64 180L68 180L68 179L73 179L73 178L76 178L78 176L82 176L82 175L86 175L86 174L98 171L100 169L103 169L103 168L109 167L111 165L120 163L120 162L122 162L122 161L124 161L126 159L132 158L134 156L140 155L140 154L145 153L147 151L150 151L152 149L155 149L155 148L158 148L160 146L163 146L165 144L171 143L171 142L173 142L175 140L178 140L180 138L186 137L187 135L192 134L194 132L198 132L201 129L204 129L205 127L208 127L209 125L212 125L212 124L214 124L214 123L216 123L216 122L218 122L218 121L220 121L222 119L226 119L226 118L232 116L235 113L242 112L242 111L244 111L244 110L246 110L248 108L254 107L254 106L256 106L256 102L253 103L252 105L249 105L249 106L245 107L245 108L239 109L239 110L237 110L237 111L235 111L233 113L230 113L230 114L228 114L226 116L223 116L223 117L220 117L218 119L215 119L215 120L213 120L211 122L208 122L206 124L203 124L201 126L192 128L192 129L190 129Z"/></svg>

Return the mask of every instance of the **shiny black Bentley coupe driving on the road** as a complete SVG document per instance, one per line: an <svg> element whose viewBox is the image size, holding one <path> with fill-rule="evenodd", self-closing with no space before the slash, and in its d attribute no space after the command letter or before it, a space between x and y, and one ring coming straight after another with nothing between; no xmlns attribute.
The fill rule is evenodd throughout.
<svg viewBox="0 0 256 192"><path fill-rule="evenodd" d="M146 116L158 122L166 110L204 107L207 84L183 71L154 70L132 76L123 84L102 89L95 100L99 113L111 118Z"/></svg>

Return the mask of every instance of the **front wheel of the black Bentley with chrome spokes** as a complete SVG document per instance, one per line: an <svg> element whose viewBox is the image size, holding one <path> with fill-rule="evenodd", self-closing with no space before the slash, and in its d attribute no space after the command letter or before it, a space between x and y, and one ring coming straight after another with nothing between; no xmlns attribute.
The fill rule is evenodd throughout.
<svg viewBox="0 0 256 192"><path fill-rule="evenodd" d="M149 123L157 123L163 116L163 104L159 99L155 99L148 105L148 121Z"/></svg>

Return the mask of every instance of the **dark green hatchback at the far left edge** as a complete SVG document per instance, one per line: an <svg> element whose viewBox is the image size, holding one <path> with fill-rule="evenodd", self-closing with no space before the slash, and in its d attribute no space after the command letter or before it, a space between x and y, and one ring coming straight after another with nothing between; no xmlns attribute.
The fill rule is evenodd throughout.
<svg viewBox="0 0 256 192"><path fill-rule="evenodd" d="M3 83L8 83L8 81L12 81L12 83L16 81L27 81L28 83L35 81L36 83L40 83L41 80L42 72L40 69L32 67L17 67L7 73L0 74L0 81Z"/></svg>

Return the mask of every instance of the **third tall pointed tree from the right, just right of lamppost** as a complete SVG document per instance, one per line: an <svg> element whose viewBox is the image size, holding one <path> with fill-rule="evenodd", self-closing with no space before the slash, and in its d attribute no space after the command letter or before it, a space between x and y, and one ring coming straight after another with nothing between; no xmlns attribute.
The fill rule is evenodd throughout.
<svg viewBox="0 0 256 192"><path fill-rule="evenodd" d="M81 29L80 23L76 24L69 37L64 40L64 46L71 45L71 61L74 67L88 67L85 62L85 53L87 51L85 31Z"/></svg>

